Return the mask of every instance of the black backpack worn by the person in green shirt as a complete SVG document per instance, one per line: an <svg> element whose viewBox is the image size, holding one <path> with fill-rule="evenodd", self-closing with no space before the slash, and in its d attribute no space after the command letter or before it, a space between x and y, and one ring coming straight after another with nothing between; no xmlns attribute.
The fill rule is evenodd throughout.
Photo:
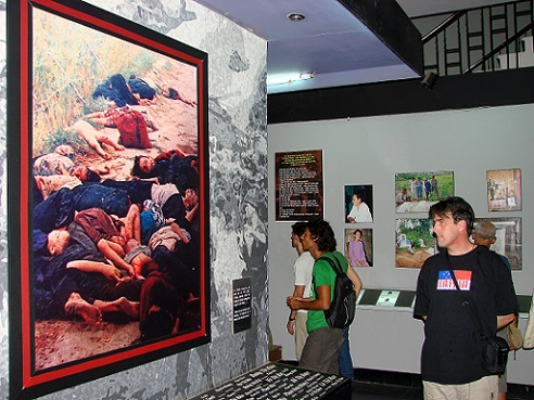
<svg viewBox="0 0 534 400"><path fill-rule="evenodd" d="M325 310L325 319L330 327L345 328L353 323L356 313L356 292L353 288L353 281L343 272L335 257L335 262L328 257L319 257L319 260L321 259L328 261L335 272L334 295L330 309Z"/></svg>

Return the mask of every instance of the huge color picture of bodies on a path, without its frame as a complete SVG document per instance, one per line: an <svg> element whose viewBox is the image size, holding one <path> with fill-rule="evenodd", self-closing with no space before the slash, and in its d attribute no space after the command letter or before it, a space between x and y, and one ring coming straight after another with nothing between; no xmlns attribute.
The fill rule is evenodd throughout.
<svg viewBox="0 0 534 400"><path fill-rule="evenodd" d="M40 9L33 27L35 370L200 331L198 67Z"/></svg>

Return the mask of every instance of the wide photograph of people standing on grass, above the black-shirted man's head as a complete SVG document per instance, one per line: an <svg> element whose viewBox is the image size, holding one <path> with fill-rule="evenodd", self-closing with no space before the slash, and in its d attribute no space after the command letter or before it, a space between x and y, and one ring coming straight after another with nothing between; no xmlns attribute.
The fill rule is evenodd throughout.
<svg viewBox="0 0 534 400"><path fill-rule="evenodd" d="M396 212L428 212L433 204L454 195L452 171L395 173Z"/></svg>

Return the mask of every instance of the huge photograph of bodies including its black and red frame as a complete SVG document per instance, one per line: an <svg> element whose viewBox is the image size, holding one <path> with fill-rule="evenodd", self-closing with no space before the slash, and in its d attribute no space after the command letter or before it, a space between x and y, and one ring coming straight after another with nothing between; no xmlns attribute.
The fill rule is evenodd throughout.
<svg viewBox="0 0 534 400"><path fill-rule="evenodd" d="M207 54L79 1L15 0L11 399L206 344Z"/></svg>

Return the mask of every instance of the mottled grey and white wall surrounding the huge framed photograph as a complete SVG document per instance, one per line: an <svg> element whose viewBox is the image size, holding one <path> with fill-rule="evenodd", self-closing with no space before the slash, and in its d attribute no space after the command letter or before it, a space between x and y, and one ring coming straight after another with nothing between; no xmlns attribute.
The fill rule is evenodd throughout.
<svg viewBox="0 0 534 400"><path fill-rule="evenodd" d="M183 399L267 361L267 43L189 0L89 2L208 53L212 343L42 399ZM9 392L5 18L0 0L0 399ZM245 276L253 324L233 334L231 283Z"/></svg>

